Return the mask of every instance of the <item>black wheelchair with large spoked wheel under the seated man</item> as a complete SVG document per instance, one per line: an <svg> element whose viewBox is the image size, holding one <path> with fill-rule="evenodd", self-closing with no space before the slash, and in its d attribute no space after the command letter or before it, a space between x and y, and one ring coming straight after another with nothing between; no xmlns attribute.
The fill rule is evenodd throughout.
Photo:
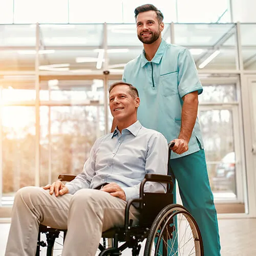
<svg viewBox="0 0 256 256"><path fill-rule="evenodd" d="M173 144L169 144L168 174L171 171L169 161L172 146ZM74 178L75 175L58 176L61 181L71 181ZM144 185L148 181L165 183L166 193L144 192ZM124 226L102 232L103 243L99 244L98 255L121 255L126 248L132 249L132 256L142 255L141 242L145 240L144 256L203 256L203 242L197 222L185 207L173 204L173 187L170 175L146 174L140 184L140 197L131 199L126 204ZM132 204L140 211L138 226L133 226L132 220L129 219ZM54 243L61 231L64 241L67 230L40 224L36 256L40 255L40 247L47 247L47 256L55 255ZM46 242L41 241L41 233L45 233Z"/></svg>

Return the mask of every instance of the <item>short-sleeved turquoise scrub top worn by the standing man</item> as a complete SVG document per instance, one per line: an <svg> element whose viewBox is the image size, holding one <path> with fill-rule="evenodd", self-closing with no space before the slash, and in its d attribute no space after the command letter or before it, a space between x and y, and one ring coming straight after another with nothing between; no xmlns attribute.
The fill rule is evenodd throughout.
<svg viewBox="0 0 256 256"><path fill-rule="evenodd" d="M190 52L181 46L161 44L151 61L143 52L124 68L123 81L131 83L139 92L138 119L149 129L162 133L167 141L178 138L181 127L182 97L203 91L195 62ZM188 151L172 158L183 157L203 148L198 118Z"/></svg>

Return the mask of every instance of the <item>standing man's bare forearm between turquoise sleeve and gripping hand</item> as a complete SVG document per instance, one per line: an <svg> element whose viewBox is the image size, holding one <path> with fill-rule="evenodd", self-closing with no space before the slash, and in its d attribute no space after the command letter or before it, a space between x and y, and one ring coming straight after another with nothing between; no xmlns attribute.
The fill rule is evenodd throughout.
<svg viewBox="0 0 256 256"><path fill-rule="evenodd" d="M178 139L190 140L198 113L198 95L197 92L189 93L183 97L183 106L181 112L181 130Z"/></svg>

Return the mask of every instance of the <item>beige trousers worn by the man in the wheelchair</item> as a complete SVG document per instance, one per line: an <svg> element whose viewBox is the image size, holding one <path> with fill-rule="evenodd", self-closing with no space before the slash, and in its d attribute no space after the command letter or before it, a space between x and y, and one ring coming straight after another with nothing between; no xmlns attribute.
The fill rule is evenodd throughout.
<svg viewBox="0 0 256 256"><path fill-rule="evenodd" d="M39 224L68 229L62 256L94 256L102 231L124 225L126 202L96 189L55 197L40 187L17 191L6 256L35 256ZM133 224L138 211L131 207Z"/></svg>

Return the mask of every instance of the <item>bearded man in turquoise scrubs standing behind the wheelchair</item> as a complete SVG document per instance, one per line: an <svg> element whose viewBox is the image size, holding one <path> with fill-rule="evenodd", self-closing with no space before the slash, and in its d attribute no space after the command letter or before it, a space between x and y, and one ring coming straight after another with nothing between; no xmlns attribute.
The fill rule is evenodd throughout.
<svg viewBox="0 0 256 256"><path fill-rule="evenodd" d="M195 62L186 48L162 39L163 14L155 6L139 6L135 18L144 50L127 63L123 81L139 91L142 125L175 142L171 166L182 202L200 227L205 255L220 255L217 213L197 118L203 88Z"/></svg>

